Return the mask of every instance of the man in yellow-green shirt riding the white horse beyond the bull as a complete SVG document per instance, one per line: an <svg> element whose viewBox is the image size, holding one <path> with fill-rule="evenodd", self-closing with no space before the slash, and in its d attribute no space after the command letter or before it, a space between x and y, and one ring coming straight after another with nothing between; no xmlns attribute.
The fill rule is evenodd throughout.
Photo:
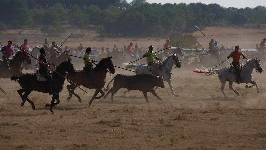
<svg viewBox="0 0 266 150"><path fill-rule="evenodd" d="M161 61L162 59L161 59L161 58L157 58L157 57L156 57L156 54L154 54L154 52L153 52L152 50L153 50L153 46L151 45L151 46L149 47L149 51L146 52L146 53L142 56L142 58L147 57L147 64L148 64L149 66L152 66L152 67L154 68L154 74L155 74L155 75L158 75L159 66L155 63L155 59L156 59L156 60L159 60L159 61Z"/></svg>

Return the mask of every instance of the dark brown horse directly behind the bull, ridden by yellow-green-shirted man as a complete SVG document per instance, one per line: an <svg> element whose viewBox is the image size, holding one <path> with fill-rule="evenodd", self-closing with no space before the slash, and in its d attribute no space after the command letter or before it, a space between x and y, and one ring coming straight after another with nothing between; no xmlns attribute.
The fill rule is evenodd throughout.
<svg viewBox="0 0 266 150"><path fill-rule="evenodd" d="M112 62L112 57L104 58L102 59L98 65L94 68L92 72L90 72L90 76L87 75L87 73L81 71L81 70L76 70L77 75L75 77L67 76L72 82L76 83L78 86L82 85L86 88L90 89L96 89L92 99L89 101L89 106L91 105L92 101L96 98L102 98L104 96L104 92L102 91L102 88L105 84L105 77L107 73L107 69L110 71L110 73L115 74L115 68L114 68L114 63ZM90 80L91 78L93 79L92 86L90 86ZM71 84L71 83L70 83ZM75 95L78 99L79 102L81 102L81 98L79 95L75 93L76 86L75 85L66 85L68 92L69 92L69 97L67 100L69 101L70 98L72 97L72 94ZM101 93L101 96L98 96L98 93Z"/></svg>

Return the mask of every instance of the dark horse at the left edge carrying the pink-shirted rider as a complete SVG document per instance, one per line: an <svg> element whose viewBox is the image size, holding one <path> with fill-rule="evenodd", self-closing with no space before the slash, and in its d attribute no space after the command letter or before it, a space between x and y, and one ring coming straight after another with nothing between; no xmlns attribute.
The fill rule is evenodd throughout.
<svg viewBox="0 0 266 150"><path fill-rule="evenodd" d="M3 66L3 62L0 61L0 78L10 78L12 75L21 75L24 65L31 64L31 58L24 52L17 52L14 58L10 61L9 67Z"/></svg>

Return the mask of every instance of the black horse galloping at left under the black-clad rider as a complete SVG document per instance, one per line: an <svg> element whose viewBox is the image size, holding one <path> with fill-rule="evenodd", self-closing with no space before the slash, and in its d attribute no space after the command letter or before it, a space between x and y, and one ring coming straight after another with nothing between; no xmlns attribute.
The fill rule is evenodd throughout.
<svg viewBox="0 0 266 150"><path fill-rule="evenodd" d="M68 72L70 75L76 75L76 71L74 69L74 66L70 62L69 59L68 59L68 61L62 62L58 66L56 71L63 76L66 76L66 72ZM53 91L56 92L57 94L53 95L51 104L50 105L46 104L45 107L50 107L50 111L52 113L54 113L53 106L59 104L59 102L60 102L59 92L61 92L63 89L65 78L61 77L56 72L52 72L52 77L53 77L52 88L53 88ZM31 103L31 105L32 105L31 108L35 110L34 102L32 102L28 98L28 95L30 95L30 93L32 91L48 93L47 82L37 81L36 75L34 73L28 73L25 75L21 75L20 77L12 76L11 80L18 81L20 86L22 87L22 89L18 90L18 94L22 98L21 106L23 106L27 100L29 103ZM22 95L22 93L24 93L24 94ZM54 103L55 100L56 100L56 103Z"/></svg>

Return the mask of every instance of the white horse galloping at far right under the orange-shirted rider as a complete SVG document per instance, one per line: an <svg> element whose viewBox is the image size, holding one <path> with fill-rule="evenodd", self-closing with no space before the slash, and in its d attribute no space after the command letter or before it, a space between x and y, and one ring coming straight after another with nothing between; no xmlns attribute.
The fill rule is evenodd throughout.
<svg viewBox="0 0 266 150"><path fill-rule="evenodd" d="M256 72L262 72L261 64L258 59L251 59L248 60L248 62L241 68L240 72L240 79L241 83L251 83L251 86L246 85L245 88L252 88L254 85L257 87L257 92L260 92L260 89L257 85L257 83L252 79L252 71L253 68L255 68ZM203 72L206 76L218 74L218 77L220 79L220 82L222 83L221 91L225 98L229 98L224 93L224 87L226 81L229 82L229 88L232 89L237 95L240 95L234 88L233 88L233 82L235 82L235 74L233 72L229 72L229 67L222 68L220 70L213 69L209 72L210 69L198 69L199 72Z"/></svg>

